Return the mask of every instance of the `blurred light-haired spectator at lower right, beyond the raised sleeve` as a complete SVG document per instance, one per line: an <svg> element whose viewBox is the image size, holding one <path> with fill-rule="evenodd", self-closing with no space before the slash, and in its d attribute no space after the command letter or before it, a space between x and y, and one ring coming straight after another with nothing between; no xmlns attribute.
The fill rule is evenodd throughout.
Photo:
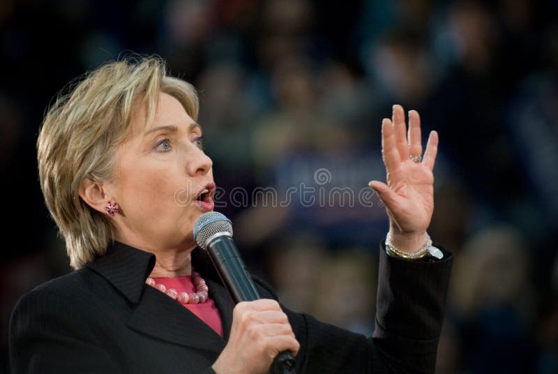
<svg viewBox="0 0 558 374"><path fill-rule="evenodd" d="M531 259L522 233L508 225L487 227L456 257L449 304L462 329L465 369L534 373L530 331L536 293L529 281Z"/></svg>

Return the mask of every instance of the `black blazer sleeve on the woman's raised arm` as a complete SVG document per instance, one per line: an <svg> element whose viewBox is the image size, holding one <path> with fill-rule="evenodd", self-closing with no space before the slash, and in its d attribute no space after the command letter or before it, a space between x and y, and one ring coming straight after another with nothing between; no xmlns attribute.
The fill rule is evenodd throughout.
<svg viewBox="0 0 558 374"><path fill-rule="evenodd" d="M296 373L434 373L452 261L446 251L439 261L401 260L382 246L370 338L284 308L301 344Z"/></svg>

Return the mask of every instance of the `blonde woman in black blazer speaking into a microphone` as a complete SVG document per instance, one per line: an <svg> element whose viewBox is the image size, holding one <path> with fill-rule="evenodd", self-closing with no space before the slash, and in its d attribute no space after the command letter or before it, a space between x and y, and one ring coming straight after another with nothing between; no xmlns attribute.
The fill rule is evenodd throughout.
<svg viewBox="0 0 558 374"><path fill-rule="evenodd" d="M197 109L190 84L144 58L101 66L47 112L40 184L75 271L18 302L13 372L266 373L289 350L298 373L431 373L451 267L428 255L437 134L421 162L418 113L408 137L399 105L382 123L388 184L370 187L390 234L365 338L282 308L257 279L264 299L234 306L193 238L215 191Z"/></svg>

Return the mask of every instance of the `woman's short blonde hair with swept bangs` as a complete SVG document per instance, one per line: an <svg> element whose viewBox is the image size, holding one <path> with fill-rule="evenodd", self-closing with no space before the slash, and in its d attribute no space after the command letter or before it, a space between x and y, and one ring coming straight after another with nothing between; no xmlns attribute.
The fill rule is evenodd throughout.
<svg viewBox="0 0 558 374"><path fill-rule="evenodd" d="M135 108L146 107L146 127L155 115L159 93L174 96L193 119L194 87L167 75L158 57L126 57L105 63L60 93L40 128L37 141L40 187L66 241L74 269L103 255L114 240L105 215L78 195L83 179L110 181L114 153L128 134Z"/></svg>

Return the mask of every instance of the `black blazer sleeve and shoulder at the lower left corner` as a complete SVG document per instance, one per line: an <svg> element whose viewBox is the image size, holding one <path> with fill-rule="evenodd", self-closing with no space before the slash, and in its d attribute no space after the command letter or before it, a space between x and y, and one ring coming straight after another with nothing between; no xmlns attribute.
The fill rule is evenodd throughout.
<svg viewBox="0 0 558 374"><path fill-rule="evenodd" d="M24 295L10 318L10 372L122 373L84 313L44 290Z"/></svg>

